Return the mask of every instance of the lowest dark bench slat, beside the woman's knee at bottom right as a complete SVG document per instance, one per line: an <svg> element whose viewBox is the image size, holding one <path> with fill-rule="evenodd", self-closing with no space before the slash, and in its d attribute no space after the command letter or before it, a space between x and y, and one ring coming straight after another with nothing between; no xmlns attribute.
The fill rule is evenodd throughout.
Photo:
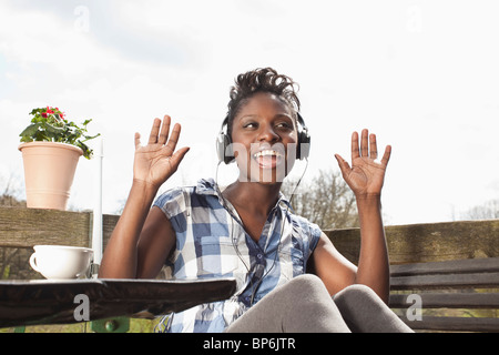
<svg viewBox="0 0 499 355"><path fill-rule="evenodd" d="M415 331L499 332L499 318L424 316L422 321L401 320Z"/></svg>

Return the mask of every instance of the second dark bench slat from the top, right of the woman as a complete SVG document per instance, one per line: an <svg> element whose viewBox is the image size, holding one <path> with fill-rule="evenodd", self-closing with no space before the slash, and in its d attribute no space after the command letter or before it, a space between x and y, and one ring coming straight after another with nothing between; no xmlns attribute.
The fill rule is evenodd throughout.
<svg viewBox="0 0 499 355"><path fill-rule="evenodd" d="M391 290L499 287L499 272L390 277Z"/></svg>

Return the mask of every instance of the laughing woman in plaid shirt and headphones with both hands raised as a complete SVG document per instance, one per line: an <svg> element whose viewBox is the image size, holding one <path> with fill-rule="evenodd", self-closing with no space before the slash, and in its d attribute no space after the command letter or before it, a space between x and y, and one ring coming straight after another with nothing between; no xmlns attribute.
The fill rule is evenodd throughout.
<svg viewBox="0 0 499 355"><path fill-rule="evenodd" d="M376 136L364 130L352 136L352 168L336 155L357 199L357 267L317 225L293 214L279 192L297 155L294 84L269 68L238 75L226 123L240 176L223 191L201 180L165 192L151 207L189 148L175 151L181 126L170 132L167 115L154 120L146 145L135 133L133 184L100 277L153 278L166 263L177 278L237 281L233 297L169 315L163 331L410 331L385 304L389 268L380 193L390 146L376 162ZM315 275L305 274L307 265Z"/></svg>

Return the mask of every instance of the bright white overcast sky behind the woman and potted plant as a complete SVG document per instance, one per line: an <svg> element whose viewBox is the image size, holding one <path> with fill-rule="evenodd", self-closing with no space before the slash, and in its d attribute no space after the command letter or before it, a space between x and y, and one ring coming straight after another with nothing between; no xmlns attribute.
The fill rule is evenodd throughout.
<svg viewBox="0 0 499 355"><path fill-rule="evenodd" d="M460 219L499 199L498 18L493 0L3 0L0 191L23 191L18 135L44 105L102 133L104 213L126 199L133 134L155 116L182 123L191 146L164 187L214 176L234 78L274 67L301 85L305 179L338 171L334 154L349 158L368 128L393 145L387 224ZM80 160L71 207L93 207L95 162ZM233 173L221 166L221 182Z"/></svg>

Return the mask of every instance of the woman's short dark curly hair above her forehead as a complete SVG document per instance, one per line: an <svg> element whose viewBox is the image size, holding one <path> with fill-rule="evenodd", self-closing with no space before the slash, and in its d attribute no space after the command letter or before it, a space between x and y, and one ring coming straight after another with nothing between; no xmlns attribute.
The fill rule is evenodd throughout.
<svg viewBox="0 0 499 355"><path fill-rule="evenodd" d="M227 111L227 134L232 133L232 122L241 108L258 92L276 94L287 104L296 120L299 111L299 99L297 97L298 84L289 77L278 74L275 69L259 68L237 75L235 85L231 88Z"/></svg>

